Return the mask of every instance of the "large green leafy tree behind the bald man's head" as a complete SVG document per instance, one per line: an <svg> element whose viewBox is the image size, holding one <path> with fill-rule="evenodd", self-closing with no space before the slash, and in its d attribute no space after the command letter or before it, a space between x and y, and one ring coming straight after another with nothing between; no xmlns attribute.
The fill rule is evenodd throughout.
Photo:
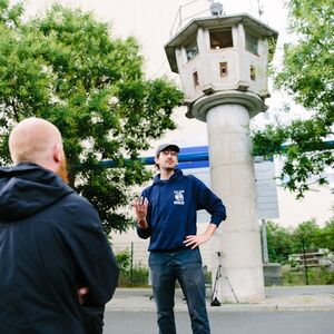
<svg viewBox="0 0 334 334"><path fill-rule="evenodd" d="M120 208L150 177L138 156L174 129L183 94L166 78L147 80L137 40L112 38L92 13L55 6L24 22L21 6L0 0L0 157L23 118L52 121L65 139L70 185L98 209L105 229L132 224ZM112 160L118 168L105 168Z"/></svg>

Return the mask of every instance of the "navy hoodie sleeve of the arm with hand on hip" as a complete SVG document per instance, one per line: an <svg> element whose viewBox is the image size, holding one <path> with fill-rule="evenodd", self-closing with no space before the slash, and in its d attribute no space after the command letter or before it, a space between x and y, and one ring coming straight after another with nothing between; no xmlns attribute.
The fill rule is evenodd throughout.
<svg viewBox="0 0 334 334"><path fill-rule="evenodd" d="M210 223L219 226L226 219L226 208L222 199L216 196L202 180L196 180L197 209L205 209L210 215Z"/></svg>

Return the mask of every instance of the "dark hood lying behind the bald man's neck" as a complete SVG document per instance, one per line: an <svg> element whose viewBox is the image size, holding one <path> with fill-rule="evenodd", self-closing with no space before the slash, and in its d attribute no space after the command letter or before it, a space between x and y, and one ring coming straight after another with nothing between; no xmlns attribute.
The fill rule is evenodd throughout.
<svg viewBox="0 0 334 334"><path fill-rule="evenodd" d="M35 164L0 168L0 222L27 218L73 193L51 170Z"/></svg>

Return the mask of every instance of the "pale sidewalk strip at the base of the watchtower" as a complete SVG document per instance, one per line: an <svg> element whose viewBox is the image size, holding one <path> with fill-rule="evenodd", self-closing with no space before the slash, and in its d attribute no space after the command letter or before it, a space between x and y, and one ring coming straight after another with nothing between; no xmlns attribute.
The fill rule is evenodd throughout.
<svg viewBox="0 0 334 334"><path fill-rule="evenodd" d="M208 312L244 311L334 311L334 285L275 286L265 288L266 298L257 304L222 304ZM108 311L154 312L150 288L117 288ZM175 311L187 311L180 289L176 291Z"/></svg>

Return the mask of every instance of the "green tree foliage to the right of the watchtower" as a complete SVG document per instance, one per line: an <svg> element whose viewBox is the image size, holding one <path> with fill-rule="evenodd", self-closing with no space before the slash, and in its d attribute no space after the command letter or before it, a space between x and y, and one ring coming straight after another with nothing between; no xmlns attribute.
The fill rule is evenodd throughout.
<svg viewBox="0 0 334 334"><path fill-rule="evenodd" d="M289 0L289 32L297 42L284 47L283 69L275 75L275 86L284 89L305 108L307 120L293 120L288 126L271 125L255 131L255 155L284 157L281 177L288 176L286 187L297 197L308 189L307 180L317 176L325 184L324 169L333 166L333 151L323 140L333 135L334 58L333 14L331 0ZM281 146L287 143L286 149Z"/></svg>

